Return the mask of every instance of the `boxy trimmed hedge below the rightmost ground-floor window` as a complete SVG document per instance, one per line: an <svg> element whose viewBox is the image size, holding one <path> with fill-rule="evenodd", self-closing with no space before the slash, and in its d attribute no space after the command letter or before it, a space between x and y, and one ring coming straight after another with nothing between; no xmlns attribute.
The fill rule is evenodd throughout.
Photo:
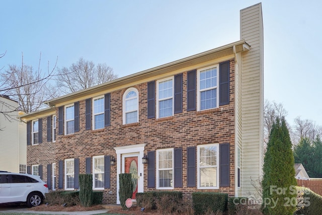
<svg viewBox="0 0 322 215"><path fill-rule="evenodd" d="M224 212L227 207L228 194L216 192L193 192L192 205L196 214L207 212Z"/></svg>

